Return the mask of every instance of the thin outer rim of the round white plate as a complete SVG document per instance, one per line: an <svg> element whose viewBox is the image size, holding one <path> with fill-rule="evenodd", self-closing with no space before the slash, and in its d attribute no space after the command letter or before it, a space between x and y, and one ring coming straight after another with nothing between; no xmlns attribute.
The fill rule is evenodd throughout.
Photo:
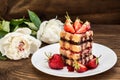
<svg viewBox="0 0 120 80"><path fill-rule="evenodd" d="M102 45L102 44L99 44L99 43L93 43L93 44L99 45L99 46L103 46L103 47L109 49L110 51L112 51L112 53L114 54L115 61L114 61L114 63L112 64L111 67L109 67L109 68L107 68L107 69L105 69L105 70L99 71L99 72L97 72L97 73L93 73L93 74L90 74L90 75L82 75L82 76L63 76L63 75L60 75L60 74L59 74L59 75L57 75L57 74L50 74L50 73L45 72L45 71L43 71L43 70L40 70L38 67L36 67L36 65L33 63L33 57L34 57L34 55L37 54L37 52L40 51L40 50L43 49L43 48L50 47L50 46L53 46L53 45L59 45L59 43L54 43L54 44L50 44L50 45L47 45L47 46L44 46L44 47L39 48L35 53L33 53L32 57L31 57L31 63L32 63L32 65L33 65L37 70L39 70L39 71L41 71L41 72L43 72L43 73L45 73L45 74L52 75L52 76L57 76L57 77L68 77L68 78L77 78L77 77L93 76L93 75L101 74L101 73L106 72L106 71L110 70L111 68L113 68L113 67L115 66L115 64L117 63L117 55L116 55L116 53L115 53L111 48L109 48L109 47L107 47L107 46L105 46L105 45ZM51 70L52 70L52 69L51 69ZM66 71L66 72L67 72L67 71ZM71 73L71 72L70 72L70 73ZM77 74L82 74L82 73L77 73Z"/></svg>

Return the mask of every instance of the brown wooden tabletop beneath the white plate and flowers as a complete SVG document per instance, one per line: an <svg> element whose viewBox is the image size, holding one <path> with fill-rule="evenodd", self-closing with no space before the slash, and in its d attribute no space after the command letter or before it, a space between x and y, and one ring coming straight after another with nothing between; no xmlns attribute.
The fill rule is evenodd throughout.
<svg viewBox="0 0 120 80"><path fill-rule="evenodd" d="M120 25L92 26L94 42L108 46L117 54L118 61L110 70L90 77L62 78L38 71L29 58L19 61L0 61L0 80L120 80Z"/></svg>

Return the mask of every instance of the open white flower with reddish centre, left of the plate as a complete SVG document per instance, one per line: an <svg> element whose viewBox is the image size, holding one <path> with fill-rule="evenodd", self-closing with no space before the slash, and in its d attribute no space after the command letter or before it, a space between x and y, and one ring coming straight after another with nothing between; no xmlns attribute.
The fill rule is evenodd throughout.
<svg viewBox="0 0 120 80"><path fill-rule="evenodd" d="M30 36L31 30L21 28L8 33L0 39L0 51L9 59L19 60L27 58L41 46L41 42Z"/></svg>

